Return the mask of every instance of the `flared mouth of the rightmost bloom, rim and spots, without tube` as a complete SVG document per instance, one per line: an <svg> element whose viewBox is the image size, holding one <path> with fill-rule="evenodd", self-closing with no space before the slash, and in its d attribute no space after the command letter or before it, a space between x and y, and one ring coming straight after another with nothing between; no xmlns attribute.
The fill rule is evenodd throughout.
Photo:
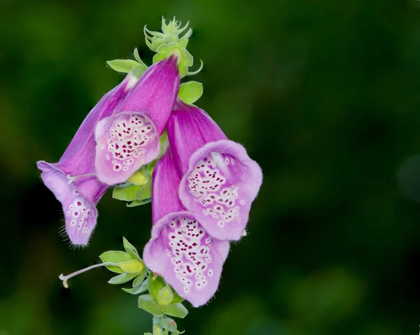
<svg viewBox="0 0 420 335"><path fill-rule="evenodd" d="M239 240L262 183L260 166L229 140L210 142L190 157L179 186L183 206L211 236Z"/></svg>

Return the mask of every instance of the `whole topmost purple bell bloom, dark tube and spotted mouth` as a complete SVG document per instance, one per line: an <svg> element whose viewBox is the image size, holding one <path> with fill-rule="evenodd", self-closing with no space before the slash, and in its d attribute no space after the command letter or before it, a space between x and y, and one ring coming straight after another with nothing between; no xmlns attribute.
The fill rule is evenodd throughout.
<svg viewBox="0 0 420 335"><path fill-rule="evenodd" d="M134 85L118 113L97 125L95 166L102 182L123 183L158 157L159 139L179 90L177 60L172 55L153 64Z"/></svg>

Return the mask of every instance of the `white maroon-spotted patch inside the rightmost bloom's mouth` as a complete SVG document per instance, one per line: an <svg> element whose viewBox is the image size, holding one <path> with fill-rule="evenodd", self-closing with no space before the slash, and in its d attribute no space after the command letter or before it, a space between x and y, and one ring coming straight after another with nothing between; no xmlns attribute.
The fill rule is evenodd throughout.
<svg viewBox="0 0 420 335"><path fill-rule="evenodd" d="M218 157L217 164L214 156ZM219 227L235 220L239 205L245 204L244 199L238 199L238 187L231 181L235 161L231 155L212 153L197 162L188 176L188 191L203 206L203 214L216 220Z"/></svg>

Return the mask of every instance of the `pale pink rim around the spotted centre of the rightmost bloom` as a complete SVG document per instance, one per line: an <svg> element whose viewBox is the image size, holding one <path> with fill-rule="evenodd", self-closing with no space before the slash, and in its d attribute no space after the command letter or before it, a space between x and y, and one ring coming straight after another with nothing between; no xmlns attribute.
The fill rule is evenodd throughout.
<svg viewBox="0 0 420 335"><path fill-rule="evenodd" d="M243 166L241 171L244 173L243 178L239 178L239 195L245 199L244 204L241 205L239 218L228 222L223 227L217 224L217 220L209 218L203 213L204 207L197 201L188 190L188 178L190 173L195 168L195 164L201 159L210 155L211 152L220 152L221 154L231 155L235 157ZM238 181L238 176L235 176ZM236 182L237 183L237 182ZM194 213L195 218L202 224L204 229L214 238L219 240L238 241L241 238L248 222L249 211L251 211L252 201L257 197L262 184L262 171L257 162L248 157L245 148L239 143L230 140L220 140L209 142L203 145L200 149L195 151L190 157L188 171L183 175L179 185L179 198L183 206L188 211Z"/></svg>

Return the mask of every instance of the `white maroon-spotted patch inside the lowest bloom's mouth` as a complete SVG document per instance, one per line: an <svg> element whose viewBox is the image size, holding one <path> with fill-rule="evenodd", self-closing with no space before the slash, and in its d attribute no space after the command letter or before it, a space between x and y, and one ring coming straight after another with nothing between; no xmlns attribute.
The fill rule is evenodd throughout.
<svg viewBox="0 0 420 335"><path fill-rule="evenodd" d="M172 220L166 233L167 255L183 291L188 293L193 287L202 290L207 286L209 277L214 276L214 269L211 269L211 236L196 220L188 218Z"/></svg>

